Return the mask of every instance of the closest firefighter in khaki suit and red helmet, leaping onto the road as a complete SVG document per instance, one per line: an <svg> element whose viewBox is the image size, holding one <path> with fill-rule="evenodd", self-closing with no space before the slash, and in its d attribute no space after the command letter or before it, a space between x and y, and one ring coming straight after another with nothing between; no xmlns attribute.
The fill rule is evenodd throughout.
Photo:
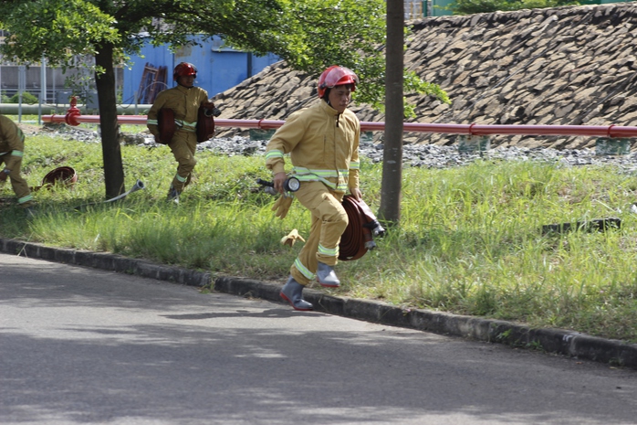
<svg viewBox="0 0 637 425"><path fill-rule="evenodd" d="M340 237L348 225L341 200L348 189L352 197L361 199L360 122L348 109L358 82L350 69L325 69L319 77L320 101L291 114L266 146L266 167L274 174L275 189L284 194L284 154L290 154L292 173L301 182L295 197L312 215L308 241L280 292L296 310L312 310L313 305L303 300L302 292L314 279L326 287L340 285L334 266ZM290 197L279 197L277 216L285 217L290 201Z"/></svg>

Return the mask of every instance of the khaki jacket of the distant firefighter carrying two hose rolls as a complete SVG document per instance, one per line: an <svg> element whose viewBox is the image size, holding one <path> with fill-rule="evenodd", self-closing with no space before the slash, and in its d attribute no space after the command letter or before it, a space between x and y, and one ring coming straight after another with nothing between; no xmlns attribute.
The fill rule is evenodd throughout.
<svg viewBox="0 0 637 425"><path fill-rule="evenodd" d="M208 100L208 92L201 87L186 88L176 86L172 89L162 90L157 99L152 103L148 112L148 130L154 136L159 136L157 114L162 108L170 108L174 112L174 120L177 129L187 132L195 132L197 124L197 112L202 102Z"/></svg>

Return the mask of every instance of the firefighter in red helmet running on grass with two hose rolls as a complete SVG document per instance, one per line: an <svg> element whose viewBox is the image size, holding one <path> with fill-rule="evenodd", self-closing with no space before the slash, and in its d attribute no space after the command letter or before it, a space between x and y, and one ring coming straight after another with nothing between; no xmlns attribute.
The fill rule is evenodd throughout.
<svg viewBox="0 0 637 425"><path fill-rule="evenodd" d="M194 87L196 77L197 69L192 63L178 64L172 72L172 80L177 82L177 86L162 90L148 112L148 129L158 143L160 142L158 125L160 110L168 108L174 112L175 132L168 146L178 165L177 173L172 178L172 184L168 190L168 200L177 204L179 204L183 187L190 182L194 165L197 164L194 153L197 147L196 125L199 107L214 108L213 102L208 100L208 92L200 87Z"/></svg>

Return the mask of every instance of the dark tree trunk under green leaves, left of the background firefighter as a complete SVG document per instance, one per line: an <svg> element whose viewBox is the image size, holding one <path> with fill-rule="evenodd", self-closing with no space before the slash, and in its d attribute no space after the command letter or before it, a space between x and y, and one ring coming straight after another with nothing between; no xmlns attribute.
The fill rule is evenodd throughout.
<svg viewBox="0 0 637 425"><path fill-rule="evenodd" d="M103 73L95 74L98 88L99 126L101 129L102 160L104 162L104 184L106 197L117 197L124 193L124 168L121 163L120 126L117 122L117 97L115 94L115 69L113 68L113 46L98 49L96 65Z"/></svg>

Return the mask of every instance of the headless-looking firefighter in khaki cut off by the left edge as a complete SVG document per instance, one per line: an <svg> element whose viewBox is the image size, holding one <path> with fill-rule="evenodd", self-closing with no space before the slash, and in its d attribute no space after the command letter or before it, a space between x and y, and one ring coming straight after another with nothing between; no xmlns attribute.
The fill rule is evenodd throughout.
<svg viewBox="0 0 637 425"><path fill-rule="evenodd" d="M5 165L0 170L0 184L4 184L8 178L11 187L16 193L17 203L25 208L27 216L33 215L33 196L26 184L26 180L20 175L22 156L25 152L25 134L18 128L15 122L5 115L0 115L0 165Z"/></svg>

